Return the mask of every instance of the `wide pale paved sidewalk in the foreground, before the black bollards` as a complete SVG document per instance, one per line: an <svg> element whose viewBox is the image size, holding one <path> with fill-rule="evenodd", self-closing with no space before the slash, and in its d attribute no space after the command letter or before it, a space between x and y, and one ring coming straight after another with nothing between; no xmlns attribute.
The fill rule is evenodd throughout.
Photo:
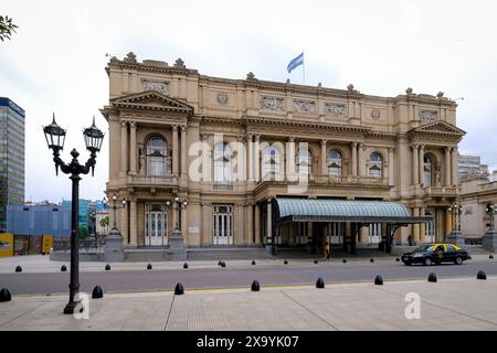
<svg viewBox="0 0 497 353"><path fill-rule="evenodd" d="M89 299L89 319L62 313L67 296L13 297L0 302L7 330L497 330L497 277L436 284L385 281L246 289L104 295ZM104 288L105 290L105 288ZM420 319L408 320L409 292Z"/></svg>

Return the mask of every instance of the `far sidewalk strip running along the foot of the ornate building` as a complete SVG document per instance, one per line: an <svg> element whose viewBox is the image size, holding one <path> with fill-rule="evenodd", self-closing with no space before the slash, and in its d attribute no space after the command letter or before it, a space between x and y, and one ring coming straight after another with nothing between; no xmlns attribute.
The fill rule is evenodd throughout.
<svg viewBox="0 0 497 353"><path fill-rule="evenodd" d="M341 254L340 254L341 255ZM230 268L243 268L251 267L252 260L225 260ZM488 260L488 255L472 255L472 261L484 261ZM319 263L324 263L322 259L318 258ZM183 267L186 261L151 261L155 270L168 270L168 269L180 269ZM218 260L188 260L188 266L190 269L193 268L218 268ZM331 264L342 264L342 257L332 257L329 259ZM347 257L347 264L369 264L370 257ZM394 256L383 256L374 257L374 263L377 264L394 264ZM144 270L147 268L149 263L110 263L113 271L134 271ZM313 265L314 258L288 258L288 265ZM70 270L68 261L51 261L49 256L43 255L29 255L29 256L14 256L14 257L3 257L0 258L0 274L13 274L17 266L22 267L23 274L53 274L60 272L62 265L65 265L67 271ZM95 261L80 261L81 272L102 272L105 269L106 263L95 263ZM284 258L275 259L256 259L256 266L284 266Z"/></svg>

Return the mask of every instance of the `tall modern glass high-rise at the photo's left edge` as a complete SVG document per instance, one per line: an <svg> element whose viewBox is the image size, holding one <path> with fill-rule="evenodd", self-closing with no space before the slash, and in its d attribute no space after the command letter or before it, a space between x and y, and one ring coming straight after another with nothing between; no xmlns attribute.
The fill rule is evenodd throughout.
<svg viewBox="0 0 497 353"><path fill-rule="evenodd" d="M0 233L7 232L7 205L24 203L24 109L0 97Z"/></svg>

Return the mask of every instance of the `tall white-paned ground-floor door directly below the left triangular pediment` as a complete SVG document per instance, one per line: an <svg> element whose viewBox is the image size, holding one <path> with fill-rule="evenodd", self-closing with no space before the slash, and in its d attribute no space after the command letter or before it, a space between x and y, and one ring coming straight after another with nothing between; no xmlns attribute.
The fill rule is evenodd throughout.
<svg viewBox="0 0 497 353"><path fill-rule="evenodd" d="M168 244L167 213L162 204L147 204L145 212L145 245L162 246Z"/></svg>

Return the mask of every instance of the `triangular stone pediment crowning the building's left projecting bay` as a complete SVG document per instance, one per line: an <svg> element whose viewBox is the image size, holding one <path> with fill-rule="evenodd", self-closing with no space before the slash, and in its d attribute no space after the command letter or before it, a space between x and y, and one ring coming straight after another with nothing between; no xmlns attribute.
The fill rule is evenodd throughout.
<svg viewBox="0 0 497 353"><path fill-rule="evenodd" d="M193 107L188 104L168 97L157 90L146 90L117 97L110 100L116 107L147 109L147 110L169 110L183 114L193 114Z"/></svg>

